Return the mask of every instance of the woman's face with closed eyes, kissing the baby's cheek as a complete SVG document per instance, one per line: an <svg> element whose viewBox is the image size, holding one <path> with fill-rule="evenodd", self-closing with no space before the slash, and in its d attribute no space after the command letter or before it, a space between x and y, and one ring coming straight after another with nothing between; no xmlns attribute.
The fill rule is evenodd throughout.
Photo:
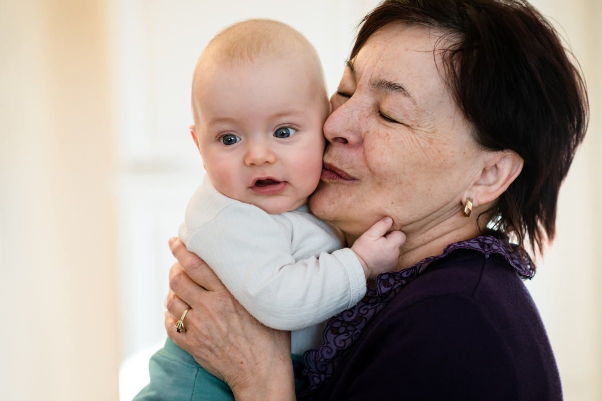
<svg viewBox="0 0 602 401"><path fill-rule="evenodd" d="M480 174L479 149L433 53L438 37L420 26L385 26L330 100L326 170L310 206L352 237L382 216L409 235L432 228L460 213Z"/></svg>

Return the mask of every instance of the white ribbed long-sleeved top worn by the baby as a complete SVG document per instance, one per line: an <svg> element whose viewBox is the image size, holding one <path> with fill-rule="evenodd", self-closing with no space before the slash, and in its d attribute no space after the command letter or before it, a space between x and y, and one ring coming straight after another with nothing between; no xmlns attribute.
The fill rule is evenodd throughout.
<svg viewBox="0 0 602 401"><path fill-rule="evenodd" d="M293 354L319 345L319 323L365 295L355 253L340 249L340 232L307 206L270 215L226 197L206 177L184 220L179 236L188 250L211 266L250 314L268 327L298 331Z"/></svg>

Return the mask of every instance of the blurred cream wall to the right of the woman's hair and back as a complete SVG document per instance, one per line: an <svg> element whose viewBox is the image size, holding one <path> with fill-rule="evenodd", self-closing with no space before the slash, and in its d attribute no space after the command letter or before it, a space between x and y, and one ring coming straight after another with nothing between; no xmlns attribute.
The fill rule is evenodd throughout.
<svg viewBox="0 0 602 401"><path fill-rule="evenodd" d="M565 399L602 400L602 2L532 3L576 54L588 85L591 121L560 190L556 241L527 287L548 330Z"/></svg>

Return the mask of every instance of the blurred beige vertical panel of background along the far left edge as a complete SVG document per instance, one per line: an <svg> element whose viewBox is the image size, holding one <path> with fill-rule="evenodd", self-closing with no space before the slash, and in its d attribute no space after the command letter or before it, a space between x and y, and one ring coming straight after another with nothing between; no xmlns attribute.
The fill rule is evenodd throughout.
<svg viewBox="0 0 602 401"><path fill-rule="evenodd" d="M0 399L116 400L107 5L0 1Z"/></svg>

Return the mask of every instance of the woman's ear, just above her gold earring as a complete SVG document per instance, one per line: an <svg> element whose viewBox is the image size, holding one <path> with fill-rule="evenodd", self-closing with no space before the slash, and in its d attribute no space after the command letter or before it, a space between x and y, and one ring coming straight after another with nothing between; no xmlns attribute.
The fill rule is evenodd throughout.
<svg viewBox="0 0 602 401"><path fill-rule="evenodd" d="M523 158L510 150L493 153L486 159L486 166L466 195L473 207L496 200L523 170Z"/></svg>

